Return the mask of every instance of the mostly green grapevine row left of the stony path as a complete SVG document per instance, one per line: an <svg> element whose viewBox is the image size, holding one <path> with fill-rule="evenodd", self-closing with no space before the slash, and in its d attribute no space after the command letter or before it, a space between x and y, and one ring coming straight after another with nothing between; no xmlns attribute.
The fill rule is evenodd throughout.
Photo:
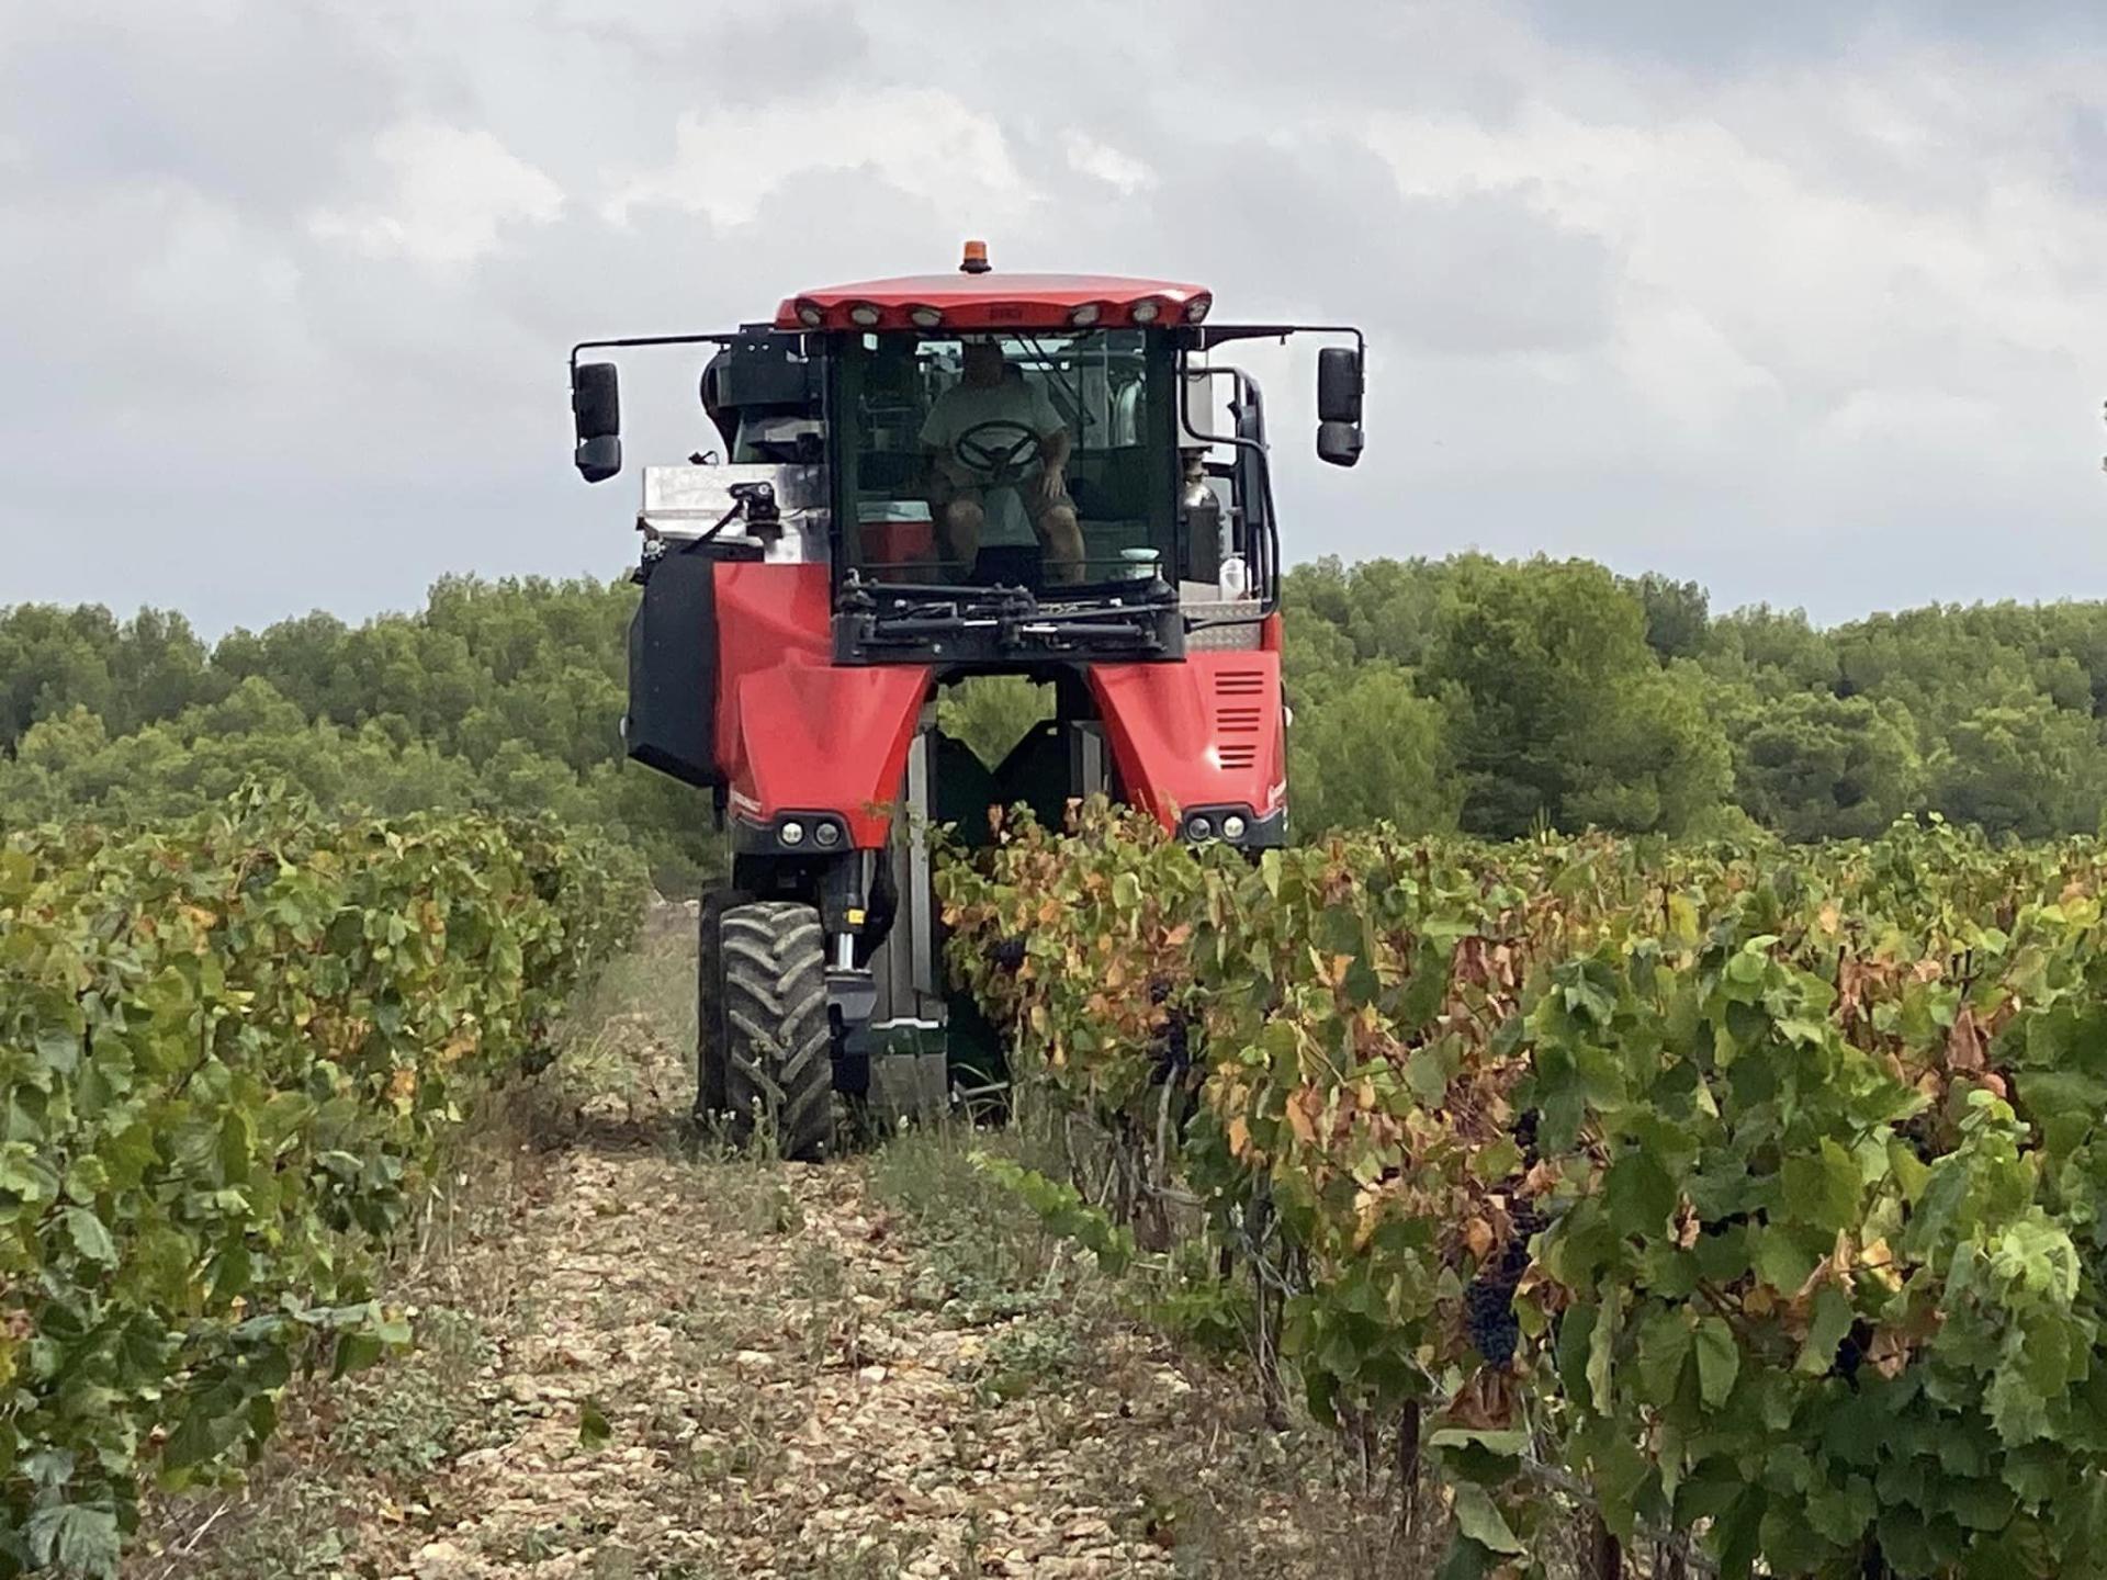
<svg viewBox="0 0 2107 1580"><path fill-rule="evenodd" d="M377 1251L641 889L548 826L263 792L0 841L0 1574L112 1574L150 1479L409 1340Z"/></svg>

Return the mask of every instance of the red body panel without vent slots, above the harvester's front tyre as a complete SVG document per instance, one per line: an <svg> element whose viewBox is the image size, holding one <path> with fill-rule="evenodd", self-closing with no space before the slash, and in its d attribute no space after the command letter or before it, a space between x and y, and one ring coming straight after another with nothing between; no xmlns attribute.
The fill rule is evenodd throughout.
<svg viewBox="0 0 2107 1580"><path fill-rule="evenodd" d="M716 630L733 811L832 811L855 849L883 849L929 668L834 664L824 565L718 565Z"/></svg>

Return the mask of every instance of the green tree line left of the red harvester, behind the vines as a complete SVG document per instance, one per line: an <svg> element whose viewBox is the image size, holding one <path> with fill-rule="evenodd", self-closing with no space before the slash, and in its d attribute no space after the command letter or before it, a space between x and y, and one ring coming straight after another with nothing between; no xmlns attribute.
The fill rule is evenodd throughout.
<svg viewBox="0 0 2107 1580"><path fill-rule="evenodd" d="M634 592L449 577L415 613L217 643L158 609L0 609L0 826L164 822L265 777L331 811L554 813L691 887L706 803L622 756Z"/></svg>

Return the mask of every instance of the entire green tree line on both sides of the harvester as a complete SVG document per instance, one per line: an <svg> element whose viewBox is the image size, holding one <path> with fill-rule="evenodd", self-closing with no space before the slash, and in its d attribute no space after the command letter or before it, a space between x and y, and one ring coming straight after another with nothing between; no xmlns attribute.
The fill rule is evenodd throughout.
<svg viewBox="0 0 2107 1580"><path fill-rule="evenodd" d="M449 577L413 613L217 643L171 611L0 609L0 822L177 817L261 773L327 807L552 811L687 887L721 845L702 796L622 756L632 605L626 581ZM2107 805L2107 603L1820 630L1589 560L1458 556L1317 560L1285 607L1302 834L1818 841L1936 811L2044 838ZM992 752L1039 706L992 687L946 720Z"/></svg>

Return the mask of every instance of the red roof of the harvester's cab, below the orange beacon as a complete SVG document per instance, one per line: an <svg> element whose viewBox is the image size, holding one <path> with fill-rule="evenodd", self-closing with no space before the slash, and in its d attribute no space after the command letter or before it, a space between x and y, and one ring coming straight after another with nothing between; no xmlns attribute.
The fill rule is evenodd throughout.
<svg viewBox="0 0 2107 1580"><path fill-rule="evenodd" d="M1125 274L904 274L898 280L858 280L801 291L775 310L777 329L912 329L910 308L936 308L944 329L1064 329L1068 314L1098 303L1098 324L1134 322L1134 305L1157 299L1155 322L1186 322L1186 308L1212 295L1176 280L1138 280ZM879 310L877 324L851 324L849 308ZM820 324L799 318L818 308ZM1203 310L1205 312L1205 310Z"/></svg>

